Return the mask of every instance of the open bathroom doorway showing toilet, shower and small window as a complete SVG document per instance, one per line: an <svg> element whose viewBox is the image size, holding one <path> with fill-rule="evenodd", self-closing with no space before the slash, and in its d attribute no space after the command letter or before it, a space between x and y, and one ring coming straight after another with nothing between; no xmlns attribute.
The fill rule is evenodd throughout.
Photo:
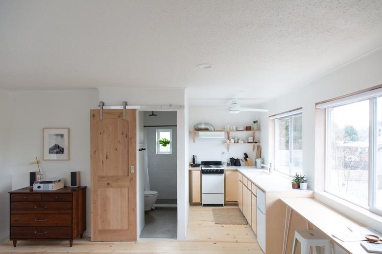
<svg viewBox="0 0 382 254"><path fill-rule="evenodd" d="M140 238L177 238L176 114L138 113Z"/></svg>

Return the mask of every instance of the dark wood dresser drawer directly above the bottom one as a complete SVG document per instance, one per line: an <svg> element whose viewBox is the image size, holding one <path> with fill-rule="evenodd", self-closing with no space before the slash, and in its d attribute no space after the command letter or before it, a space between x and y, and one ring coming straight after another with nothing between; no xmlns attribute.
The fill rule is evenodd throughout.
<svg viewBox="0 0 382 254"><path fill-rule="evenodd" d="M11 214L11 227L72 227L72 214Z"/></svg>

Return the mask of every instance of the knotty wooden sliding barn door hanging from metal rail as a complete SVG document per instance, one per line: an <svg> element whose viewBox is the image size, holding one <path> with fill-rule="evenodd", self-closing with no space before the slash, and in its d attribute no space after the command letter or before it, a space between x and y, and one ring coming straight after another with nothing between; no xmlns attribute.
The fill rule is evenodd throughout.
<svg viewBox="0 0 382 254"><path fill-rule="evenodd" d="M92 241L137 240L136 115L90 110Z"/></svg>

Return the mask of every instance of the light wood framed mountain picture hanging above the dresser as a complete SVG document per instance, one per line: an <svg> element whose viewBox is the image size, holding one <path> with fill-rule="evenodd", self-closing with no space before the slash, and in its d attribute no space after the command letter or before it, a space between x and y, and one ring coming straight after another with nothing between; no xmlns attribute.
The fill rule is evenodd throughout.
<svg viewBox="0 0 382 254"><path fill-rule="evenodd" d="M69 128L43 128L43 160L69 161Z"/></svg>

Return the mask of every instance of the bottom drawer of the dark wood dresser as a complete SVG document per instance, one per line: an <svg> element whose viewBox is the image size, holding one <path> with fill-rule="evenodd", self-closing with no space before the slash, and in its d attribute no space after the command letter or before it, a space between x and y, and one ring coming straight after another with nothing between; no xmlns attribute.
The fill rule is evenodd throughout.
<svg viewBox="0 0 382 254"><path fill-rule="evenodd" d="M71 227L11 227L10 239L71 239Z"/></svg>

